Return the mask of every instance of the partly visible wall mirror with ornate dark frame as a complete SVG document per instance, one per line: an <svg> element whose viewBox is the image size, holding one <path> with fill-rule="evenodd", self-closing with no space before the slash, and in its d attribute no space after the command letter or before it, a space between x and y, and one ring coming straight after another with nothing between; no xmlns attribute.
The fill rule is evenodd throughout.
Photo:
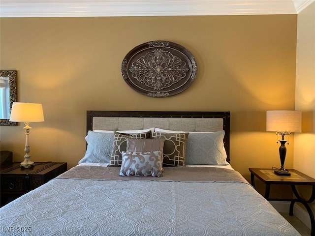
<svg viewBox="0 0 315 236"><path fill-rule="evenodd" d="M12 103L17 102L16 70L0 70L0 125L16 125L10 122Z"/></svg>

